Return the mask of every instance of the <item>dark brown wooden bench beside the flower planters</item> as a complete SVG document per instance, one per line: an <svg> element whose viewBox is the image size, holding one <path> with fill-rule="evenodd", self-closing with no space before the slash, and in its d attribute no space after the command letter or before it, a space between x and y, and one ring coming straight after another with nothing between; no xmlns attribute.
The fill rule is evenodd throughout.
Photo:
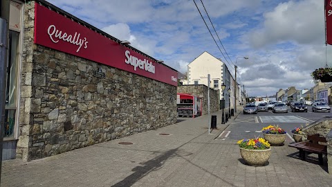
<svg viewBox="0 0 332 187"><path fill-rule="evenodd" d="M297 148L299 150L299 157L302 160L306 160L306 156L311 153L318 154L318 160L320 165L323 165L323 154L327 154L327 146L321 143L326 143L324 137L320 137L320 134L308 135L308 141L300 141L297 143L291 143L288 146Z"/></svg>

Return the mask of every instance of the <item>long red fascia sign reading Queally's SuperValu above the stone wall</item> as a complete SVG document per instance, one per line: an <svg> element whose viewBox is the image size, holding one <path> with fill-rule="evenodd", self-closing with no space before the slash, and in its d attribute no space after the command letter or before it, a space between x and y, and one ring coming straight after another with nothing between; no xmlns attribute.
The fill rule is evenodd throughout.
<svg viewBox="0 0 332 187"><path fill-rule="evenodd" d="M174 86L177 71L35 3L35 44Z"/></svg>

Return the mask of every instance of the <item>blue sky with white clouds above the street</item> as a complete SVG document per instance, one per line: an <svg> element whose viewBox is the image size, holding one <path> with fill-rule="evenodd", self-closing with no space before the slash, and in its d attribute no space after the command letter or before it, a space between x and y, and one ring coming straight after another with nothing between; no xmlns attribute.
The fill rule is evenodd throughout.
<svg viewBox="0 0 332 187"><path fill-rule="evenodd" d="M332 66L332 46L325 45L324 0L48 2L129 40L181 73L204 51L221 58L233 76L236 64L237 80L248 96L273 96L288 87L311 89L311 72Z"/></svg>

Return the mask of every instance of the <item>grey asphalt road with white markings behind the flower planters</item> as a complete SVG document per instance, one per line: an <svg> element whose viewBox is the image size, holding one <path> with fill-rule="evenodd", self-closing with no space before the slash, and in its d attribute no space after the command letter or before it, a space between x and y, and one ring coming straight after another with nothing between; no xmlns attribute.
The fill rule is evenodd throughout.
<svg viewBox="0 0 332 187"><path fill-rule="evenodd" d="M331 112L312 112L311 106L308 106L308 112L291 112L288 107L288 113L258 112L258 114L239 114L235 121L230 124L219 139L240 140L262 137L261 129L268 125L279 125L286 130L286 142L293 141L293 130L295 127L306 126L324 116L332 116Z"/></svg>

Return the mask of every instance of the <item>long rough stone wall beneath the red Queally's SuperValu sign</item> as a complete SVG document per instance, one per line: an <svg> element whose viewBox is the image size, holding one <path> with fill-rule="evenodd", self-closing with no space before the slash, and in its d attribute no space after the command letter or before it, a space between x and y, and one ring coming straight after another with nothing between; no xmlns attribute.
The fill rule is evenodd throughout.
<svg viewBox="0 0 332 187"><path fill-rule="evenodd" d="M33 44L26 4L17 158L40 159L176 122L176 87ZM105 78L93 76L102 69Z"/></svg>

